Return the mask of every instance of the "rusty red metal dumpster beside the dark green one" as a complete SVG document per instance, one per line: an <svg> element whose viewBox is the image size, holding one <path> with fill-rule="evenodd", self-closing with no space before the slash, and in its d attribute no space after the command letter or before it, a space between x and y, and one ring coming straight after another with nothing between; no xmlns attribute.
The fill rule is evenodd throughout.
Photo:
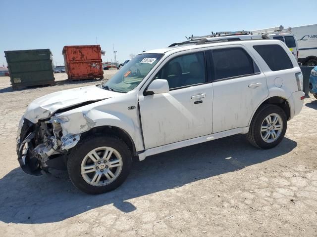
<svg viewBox="0 0 317 237"><path fill-rule="evenodd" d="M64 46L62 54L69 80L104 78L100 45Z"/></svg>

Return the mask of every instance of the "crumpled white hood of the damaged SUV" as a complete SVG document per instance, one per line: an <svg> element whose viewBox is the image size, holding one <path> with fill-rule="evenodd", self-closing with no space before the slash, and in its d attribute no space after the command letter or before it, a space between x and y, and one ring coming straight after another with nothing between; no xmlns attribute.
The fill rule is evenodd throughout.
<svg viewBox="0 0 317 237"><path fill-rule="evenodd" d="M25 111L24 118L36 123L39 119L49 118L57 110L119 95L122 93L104 90L95 85L57 91L32 101Z"/></svg>

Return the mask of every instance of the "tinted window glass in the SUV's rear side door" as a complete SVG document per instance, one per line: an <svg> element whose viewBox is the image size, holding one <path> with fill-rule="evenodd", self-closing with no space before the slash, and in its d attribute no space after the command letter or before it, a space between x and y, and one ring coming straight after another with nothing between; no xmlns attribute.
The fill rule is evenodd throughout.
<svg viewBox="0 0 317 237"><path fill-rule="evenodd" d="M212 55L215 80L254 74L253 60L242 48L216 49Z"/></svg>

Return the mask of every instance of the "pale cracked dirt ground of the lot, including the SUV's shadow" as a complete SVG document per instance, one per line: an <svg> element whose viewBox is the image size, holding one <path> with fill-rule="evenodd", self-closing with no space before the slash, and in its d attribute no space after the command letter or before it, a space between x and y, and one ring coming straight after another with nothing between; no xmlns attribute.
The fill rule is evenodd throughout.
<svg viewBox="0 0 317 237"><path fill-rule="evenodd" d="M91 196L64 171L29 176L17 162L18 121L32 100L100 83L55 78L55 86L12 91L0 77L0 237L317 236L314 97L274 149L236 135L159 154L135 162L117 190Z"/></svg>

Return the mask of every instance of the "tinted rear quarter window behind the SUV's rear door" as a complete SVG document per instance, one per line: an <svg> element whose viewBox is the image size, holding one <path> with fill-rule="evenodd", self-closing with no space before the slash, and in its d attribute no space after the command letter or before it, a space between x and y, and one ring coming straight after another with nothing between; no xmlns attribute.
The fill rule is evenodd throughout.
<svg viewBox="0 0 317 237"><path fill-rule="evenodd" d="M253 48L264 59L271 71L280 71L293 68L292 61L280 45L254 45Z"/></svg>

